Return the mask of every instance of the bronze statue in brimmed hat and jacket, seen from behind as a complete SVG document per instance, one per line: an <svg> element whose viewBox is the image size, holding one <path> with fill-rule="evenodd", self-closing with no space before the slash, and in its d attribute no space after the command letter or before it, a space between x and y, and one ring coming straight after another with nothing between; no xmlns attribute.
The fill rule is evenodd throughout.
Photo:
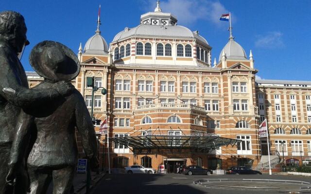
<svg viewBox="0 0 311 194"><path fill-rule="evenodd" d="M45 78L32 89L38 91L53 88L56 81L70 81L80 72L80 63L72 50L53 41L37 44L31 51L30 64ZM75 89L69 96L24 111L32 115L33 120L23 120L18 128L12 146L9 182L23 158L25 143L32 142L27 160L31 194L46 193L51 180L53 194L67 194L78 159L75 129L82 137L82 146L91 161L91 169L97 170L96 134L79 91Z"/></svg>

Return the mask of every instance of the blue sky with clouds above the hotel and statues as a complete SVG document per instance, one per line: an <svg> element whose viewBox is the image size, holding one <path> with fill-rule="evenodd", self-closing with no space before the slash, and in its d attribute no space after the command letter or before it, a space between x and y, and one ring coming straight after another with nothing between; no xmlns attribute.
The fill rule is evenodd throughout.
<svg viewBox="0 0 311 194"><path fill-rule="evenodd" d="M101 31L109 44L125 27L139 24L141 14L154 11L156 0L1 0L0 11L20 12L26 20L26 47L22 64L40 41L54 40L78 52L80 42L96 30L101 4ZM257 74L262 79L304 80L311 75L311 0L161 0L163 12L177 16L178 25L198 30L207 39L212 57L218 59L228 41L228 22L221 14L232 14L233 35L249 55L252 49Z"/></svg>

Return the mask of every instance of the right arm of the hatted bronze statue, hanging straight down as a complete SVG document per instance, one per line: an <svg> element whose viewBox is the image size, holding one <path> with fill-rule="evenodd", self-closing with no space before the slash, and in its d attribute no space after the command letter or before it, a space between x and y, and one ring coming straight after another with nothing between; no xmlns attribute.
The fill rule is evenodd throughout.
<svg viewBox="0 0 311 194"><path fill-rule="evenodd" d="M78 96L75 110L76 127L82 138L84 152L87 158L91 159L97 156L98 151L96 133L83 97L80 93L76 95Z"/></svg>

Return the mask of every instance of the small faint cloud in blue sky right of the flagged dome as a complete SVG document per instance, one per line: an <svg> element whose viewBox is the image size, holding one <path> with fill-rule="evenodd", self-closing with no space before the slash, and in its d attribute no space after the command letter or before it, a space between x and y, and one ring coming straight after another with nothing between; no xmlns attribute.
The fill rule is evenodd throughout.
<svg viewBox="0 0 311 194"><path fill-rule="evenodd" d="M284 47L282 36L281 32L267 32L264 35L258 35L255 46L268 49Z"/></svg>

